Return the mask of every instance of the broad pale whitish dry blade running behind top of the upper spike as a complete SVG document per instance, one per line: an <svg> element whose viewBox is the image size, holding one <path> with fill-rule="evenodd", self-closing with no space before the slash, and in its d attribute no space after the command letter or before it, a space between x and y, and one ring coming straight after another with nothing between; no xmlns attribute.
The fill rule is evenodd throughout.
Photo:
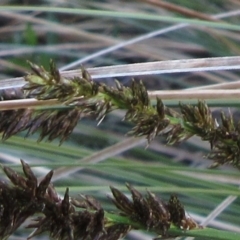
<svg viewBox="0 0 240 240"><path fill-rule="evenodd" d="M88 68L93 79L121 76L143 76L166 73L182 73L194 71L220 71L240 69L240 57L216 57L200 59L181 59L156 61L148 63L123 64ZM73 77L81 75L81 70L61 72L63 76ZM11 78L0 81L0 89L22 87L23 78Z"/></svg>

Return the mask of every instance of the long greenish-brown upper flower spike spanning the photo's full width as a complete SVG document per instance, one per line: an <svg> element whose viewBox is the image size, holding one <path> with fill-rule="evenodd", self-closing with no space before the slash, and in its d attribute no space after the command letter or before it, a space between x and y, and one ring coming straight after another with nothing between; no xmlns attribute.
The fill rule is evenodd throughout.
<svg viewBox="0 0 240 240"><path fill-rule="evenodd" d="M36 64L30 63L30 66L33 73L25 76L26 85L16 92L3 90L1 100L57 99L64 107L1 111L3 140L23 130L27 130L26 136L40 130L38 141L60 138L61 144L82 117L94 116L100 123L109 112L124 109L124 120L134 125L130 135L146 136L149 143L162 135L170 145L196 135L210 143L207 157L214 160L212 167L222 164L240 167L240 123L223 112L220 119L215 119L204 101L196 106L180 103L180 112L177 112L164 106L159 98L153 106L141 81L132 81L130 87L116 81L114 88L94 82L84 68L82 76L67 78L53 62L50 62L50 71Z"/></svg>

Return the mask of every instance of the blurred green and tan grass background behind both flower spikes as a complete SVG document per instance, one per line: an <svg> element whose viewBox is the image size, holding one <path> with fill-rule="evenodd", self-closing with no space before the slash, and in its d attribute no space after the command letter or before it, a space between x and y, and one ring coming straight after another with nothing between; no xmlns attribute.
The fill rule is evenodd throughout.
<svg viewBox="0 0 240 240"><path fill-rule="evenodd" d="M25 75L29 71L26 60L48 68L49 60L53 59L60 69L67 70L72 63L71 68L76 69L80 64L88 68L240 54L238 31L201 26L200 22L222 21L223 24L238 25L240 17L233 13L240 10L239 1L171 0L167 1L168 4L163 3L166 2L2 0L0 10L9 5L34 6L35 9L0 12L0 79ZM49 9L60 7L62 11L45 12L38 10L40 6ZM99 10L102 16L74 14L76 9ZM121 12L122 17L121 14L117 18L114 14L104 17L106 10ZM124 13L138 13L142 17L126 18ZM148 20L146 14L172 19L178 17L179 22ZM224 19L214 19L222 14ZM181 19L199 20L199 24L181 26ZM174 25L175 30L164 32ZM150 33L160 30L162 34L149 37ZM139 36L144 40L126 45ZM119 44L121 47L104 52L104 49ZM142 79L148 90L186 89L239 80L239 71L172 73L136 78ZM128 85L131 78L118 80ZM114 84L111 76L101 81ZM216 116L220 108L221 104L213 108ZM238 118L238 108L231 108L231 111ZM210 147L195 137L175 146L166 146L165 140L159 137L145 149L144 139L126 135L132 126L122 118L122 111L114 111L99 126L94 119L83 119L60 147L57 141L37 143L37 134L27 139L23 139L24 134L19 134L0 144L0 162L20 170L19 159L24 159L36 167L34 170L38 176L55 169L54 184L59 193L70 187L71 196L91 194L109 210L112 209L106 198L110 192L109 185L126 190L124 184L128 182L139 190L152 190L165 200L169 194L175 193L199 223L240 233L238 170L230 166L208 169L212 162L203 156ZM23 226L10 239L25 239L29 233ZM148 240L152 239L152 234L133 231L126 239Z"/></svg>

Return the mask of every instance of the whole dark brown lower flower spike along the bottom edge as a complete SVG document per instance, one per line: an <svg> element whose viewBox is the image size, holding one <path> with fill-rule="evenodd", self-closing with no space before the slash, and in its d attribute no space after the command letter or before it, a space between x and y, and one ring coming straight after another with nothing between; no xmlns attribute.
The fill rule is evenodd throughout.
<svg viewBox="0 0 240 240"><path fill-rule="evenodd" d="M38 182L27 163L21 160L24 175L3 167L11 183L0 181L0 238L7 239L29 217L35 217L27 228L34 228L28 239L48 234L56 240L117 240L132 229L144 229L169 236L171 224L189 230L198 224L185 214L176 196L168 202L147 192L142 196L127 184L132 200L117 188L110 187L111 201L120 210L105 211L92 196L71 198L67 188L63 198L56 192L50 171ZM121 220L119 220L121 218Z"/></svg>

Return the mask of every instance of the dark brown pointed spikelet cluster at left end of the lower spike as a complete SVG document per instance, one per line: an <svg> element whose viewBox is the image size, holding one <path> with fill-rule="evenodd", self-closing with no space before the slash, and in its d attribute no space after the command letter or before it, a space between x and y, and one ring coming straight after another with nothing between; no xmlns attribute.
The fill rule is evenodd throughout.
<svg viewBox="0 0 240 240"><path fill-rule="evenodd" d="M41 212L44 207L46 189L52 177L52 171L39 185L28 164L21 160L25 177L11 168L3 167L13 186L1 182L0 186L0 237L7 238L30 216Z"/></svg>

